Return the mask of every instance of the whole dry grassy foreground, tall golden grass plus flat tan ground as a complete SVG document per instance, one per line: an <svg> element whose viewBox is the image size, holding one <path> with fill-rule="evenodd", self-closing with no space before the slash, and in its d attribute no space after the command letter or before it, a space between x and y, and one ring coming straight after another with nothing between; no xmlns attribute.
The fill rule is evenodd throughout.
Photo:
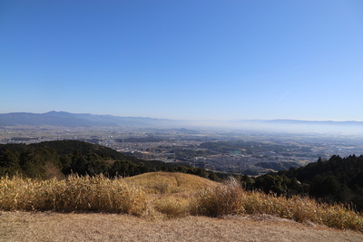
<svg viewBox="0 0 363 242"><path fill-rule="evenodd" d="M0 179L0 213L2 241L363 241L347 208L181 173Z"/></svg>

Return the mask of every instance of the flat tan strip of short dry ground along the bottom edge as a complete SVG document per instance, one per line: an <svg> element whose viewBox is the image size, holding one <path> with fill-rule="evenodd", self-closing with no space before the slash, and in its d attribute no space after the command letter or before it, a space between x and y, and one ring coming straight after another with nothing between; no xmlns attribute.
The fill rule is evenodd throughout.
<svg viewBox="0 0 363 242"><path fill-rule="evenodd" d="M271 216L169 220L0 211L0 241L363 241L363 234Z"/></svg>

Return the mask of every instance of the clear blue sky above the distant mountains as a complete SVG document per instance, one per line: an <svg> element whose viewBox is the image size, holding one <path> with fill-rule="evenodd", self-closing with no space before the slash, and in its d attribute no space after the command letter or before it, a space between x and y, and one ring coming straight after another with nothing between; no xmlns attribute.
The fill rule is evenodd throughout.
<svg viewBox="0 0 363 242"><path fill-rule="evenodd" d="M363 121L363 1L0 1L0 113Z"/></svg>

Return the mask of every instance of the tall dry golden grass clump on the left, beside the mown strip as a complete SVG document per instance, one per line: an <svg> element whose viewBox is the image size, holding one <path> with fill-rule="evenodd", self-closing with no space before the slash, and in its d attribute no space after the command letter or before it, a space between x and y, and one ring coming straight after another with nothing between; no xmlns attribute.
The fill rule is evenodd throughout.
<svg viewBox="0 0 363 242"><path fill-rule="evenodd" d="M123 179L69 176L66 179L0 179L1 210L104 211L141 216L142 189Z"/></svg>

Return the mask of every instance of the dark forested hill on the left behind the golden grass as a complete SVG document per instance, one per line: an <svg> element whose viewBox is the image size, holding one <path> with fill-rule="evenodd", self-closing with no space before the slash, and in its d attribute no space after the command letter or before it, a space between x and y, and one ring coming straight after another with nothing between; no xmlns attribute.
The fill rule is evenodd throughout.
<svg viewBox="0 0 363 242"><path fill-rule="evenodd" d="M33 179L64 178L69 174L130 177L145 172L171 171L218 179L211 171L185 163L140 160L98 144L78 140L56 140L0 145L0 177Z"/></svg>

